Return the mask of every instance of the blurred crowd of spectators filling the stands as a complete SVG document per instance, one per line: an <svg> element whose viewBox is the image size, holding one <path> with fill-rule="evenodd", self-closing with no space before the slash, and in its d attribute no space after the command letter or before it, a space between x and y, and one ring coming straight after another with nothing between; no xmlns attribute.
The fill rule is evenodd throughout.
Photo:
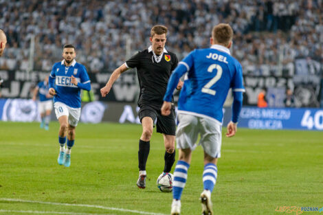
<svg viewBox="0 0 323 215"><path fill-rule="evenodd" d="M166 49L179 60L209 47L214 25L230 23L232 54L243 68L293 67L293 60L307 57L323 63L322 0L0 0L0 14L8 36L0 69L26 70L32 54L34 69L50 71L71 43L89 72L111 72L149 46L157 23L168 27Z"/></svg>

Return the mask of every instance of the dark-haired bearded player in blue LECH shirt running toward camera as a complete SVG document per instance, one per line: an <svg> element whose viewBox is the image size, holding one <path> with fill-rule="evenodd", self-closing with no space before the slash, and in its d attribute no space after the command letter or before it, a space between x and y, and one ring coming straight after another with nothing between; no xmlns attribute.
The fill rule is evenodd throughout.
<svg viewBox="0 0 323 215"><path fill-rule="evenodd" d="M49 94L54 96L54 109L60 123L58 164L66 167L71 165L71 148L74 146L75 128L80 120L80 90L91 90L87 69L76 63L75 57L75 47L71 44L64 45L64 59L54 64L49 76Z"/></svg>

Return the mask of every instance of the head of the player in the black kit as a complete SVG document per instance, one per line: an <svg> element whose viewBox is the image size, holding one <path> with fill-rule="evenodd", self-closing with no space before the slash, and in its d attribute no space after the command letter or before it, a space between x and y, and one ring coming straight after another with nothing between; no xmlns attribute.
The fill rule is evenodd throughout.
<svg viewBox="0 0 323 215"><path fill-rule="evenodd" d="M163 53L166 43L167 27L164 25L155 25L151 28L151 46L155 54Z"/></svg>

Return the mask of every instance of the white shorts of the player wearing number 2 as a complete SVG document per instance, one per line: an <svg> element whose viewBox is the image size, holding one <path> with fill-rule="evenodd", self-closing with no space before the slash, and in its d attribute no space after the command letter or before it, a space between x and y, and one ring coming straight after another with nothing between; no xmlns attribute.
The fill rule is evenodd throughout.
<svg viewBox="0 0 323 215"><path fill-rule="evenodd" d="M176 131L177 148L194 150L199 134L199 144L211 157L221 157L222 125L216 120L179 113Z"/></svg>

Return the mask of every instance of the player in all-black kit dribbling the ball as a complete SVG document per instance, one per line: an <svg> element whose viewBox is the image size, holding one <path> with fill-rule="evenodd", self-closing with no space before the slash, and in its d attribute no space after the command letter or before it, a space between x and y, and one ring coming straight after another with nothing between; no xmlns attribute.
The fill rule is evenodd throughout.
<svg viewBox="0 0 323 215"><path fill-rule="evenodd" d="M168 174L175 162L175 109L168 116L160 113L163 104L164 94L168 79L172 71L177 67L177 56L165 49L167 27L155 25L151 29L151 46L132 56L126 63L113 71L106 86L101 89L102 97L105 97L111 90L112 84L121 73L129 68L137 68L137 75L140 84L140 97L138 115L142 122L142 136L139 140L139 179L138 188L146 188L146 161L149 155L150 139L153 133L153 124L157 118L157 132L164 136L165 166L164 174ZM179 81L177 89L181 89L183 82Z"/></svg>

